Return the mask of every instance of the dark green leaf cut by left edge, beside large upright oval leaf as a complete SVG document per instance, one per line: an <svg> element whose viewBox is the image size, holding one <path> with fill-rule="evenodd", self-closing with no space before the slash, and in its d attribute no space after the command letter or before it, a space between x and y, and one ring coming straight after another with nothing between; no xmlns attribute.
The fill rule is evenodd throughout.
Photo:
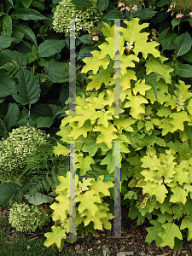
<svg viewBox="0 0 192 256"><path fill-rule="evenodd" d="M15 82L3 70L0 70L0 77L0 98L3 98L11 94L11 90L15 87Z"/></svg>

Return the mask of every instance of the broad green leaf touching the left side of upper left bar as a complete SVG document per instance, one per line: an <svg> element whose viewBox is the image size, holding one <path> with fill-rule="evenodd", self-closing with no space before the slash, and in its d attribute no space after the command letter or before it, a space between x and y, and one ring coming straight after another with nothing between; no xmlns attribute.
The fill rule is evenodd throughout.
<svg viewBox="0 0 192 256"><path fill-rule="evenodd" d="M48 74L47 78L53 83L62 83L61 79L69 77L68 63L65 62L47 61L44 70Z"/></svg>

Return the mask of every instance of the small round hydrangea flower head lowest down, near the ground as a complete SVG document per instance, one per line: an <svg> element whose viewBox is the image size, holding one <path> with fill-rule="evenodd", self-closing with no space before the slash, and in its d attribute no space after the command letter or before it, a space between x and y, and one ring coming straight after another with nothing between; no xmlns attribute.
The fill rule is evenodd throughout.
<svg viewBox="0 0 192 256"><path fill-rule="evenodd" d="M35 232L50 221L51 212L41 206L14 203L9 209L9 224L20 232Z"/></svg>

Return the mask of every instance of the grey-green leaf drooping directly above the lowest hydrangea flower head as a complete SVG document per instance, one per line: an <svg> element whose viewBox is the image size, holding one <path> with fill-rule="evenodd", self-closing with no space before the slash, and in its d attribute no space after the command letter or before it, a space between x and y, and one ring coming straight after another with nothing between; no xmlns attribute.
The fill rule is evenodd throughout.
<svg viewBox="0 0 192 256"><path fill-rule="evenodd" d="M39 192L35 192L33 195L25 195L26 200L35 206L44 204L48 202L49 204L52 204L54 201L54 198L49 195L43 195Z"/></svg>

